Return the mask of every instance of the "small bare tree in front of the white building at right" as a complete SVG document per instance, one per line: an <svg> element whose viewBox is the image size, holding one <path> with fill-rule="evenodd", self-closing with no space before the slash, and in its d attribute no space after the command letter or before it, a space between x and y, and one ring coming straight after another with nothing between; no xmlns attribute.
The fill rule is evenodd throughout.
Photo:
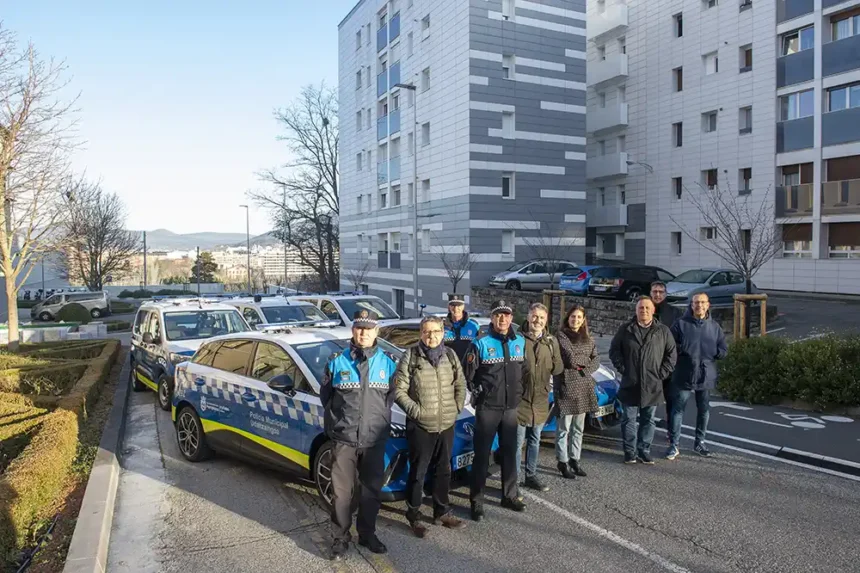
<svg viewBox="0 0 860 573"><path fill-rule="evenodd" d="M753 277L782 248L773 204L733 191L728 181L725 186L699 185L695 192L685 188L685 196L699 211L704 226L713 231L702 234L699 228L691 229L675 217L670 217L672 222L694 243L741 273L746 292L751 293ZM711 238L707 233L712 233Z"/></svg>

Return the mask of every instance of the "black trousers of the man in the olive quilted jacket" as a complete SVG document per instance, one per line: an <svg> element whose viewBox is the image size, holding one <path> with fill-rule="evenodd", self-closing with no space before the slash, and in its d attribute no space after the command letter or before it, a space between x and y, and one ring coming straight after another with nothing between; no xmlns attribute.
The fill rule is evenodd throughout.
<svg viewBox="0 0 860 573"><path fill-rule="evenodd" d="M411 420L406 422L409 442L409 480L406 483L406 519L417 521L424 501L424 479L433 467L433 518L450 511L451 450L454 448L454 426L439 433L422 429Z"/></svg>

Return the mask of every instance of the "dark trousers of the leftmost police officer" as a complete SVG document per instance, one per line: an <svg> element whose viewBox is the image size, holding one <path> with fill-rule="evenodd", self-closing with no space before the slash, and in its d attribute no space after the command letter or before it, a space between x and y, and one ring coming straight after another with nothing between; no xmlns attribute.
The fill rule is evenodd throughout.
<svg viewBox="0 0 860 573"><path fill-rule="evenodd" d="M358 536L368 537L376 532L376 516L379 515L383 474L385 473L385 442L369 448L356 448L346 444L334 444L331 467L332 487L332 536L350 540L352 526L352 499L355 493L356 472L361 488L358 501Z"/></svg>

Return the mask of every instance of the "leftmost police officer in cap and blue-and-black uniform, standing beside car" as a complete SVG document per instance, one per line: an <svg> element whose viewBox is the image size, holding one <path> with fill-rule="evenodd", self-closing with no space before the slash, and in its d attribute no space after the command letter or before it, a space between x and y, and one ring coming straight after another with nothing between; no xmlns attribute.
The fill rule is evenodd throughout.
<svg viewBox="0 0 860 573"><path fill-rule="evenodd" d="M396 362L376 345L376 315L360 310L353 316L349 348L335 353L320 384L326 435L332 449L332 559L349 547L356 470L361 487L358 506L358 543L373 553L387 548L376 537L385 443L391 431Z"/></svg>

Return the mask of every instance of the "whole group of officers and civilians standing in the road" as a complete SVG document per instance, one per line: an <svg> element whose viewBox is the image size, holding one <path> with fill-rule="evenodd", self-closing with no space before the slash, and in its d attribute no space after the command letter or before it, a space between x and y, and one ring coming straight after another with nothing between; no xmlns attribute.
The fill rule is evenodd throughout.
<svg viewBox="0 0 860 573"><path fill-rule="evenodd" d="M654 415L661 396L665 396L671 420L667 458L678 455L681 417L693 393L700 408L696 450L707 455L708 391L716 379L713 361L726 353L725 337L708 316L705 295L696 295L687 313L678 317L665 304L665 292L665 285L655 283L652 296L637 302L636 317L612 340L610 359L621 375L618 398L624 406L625 463L653 463ZM449 488L454 425L467 394L475 408L469 496L473 521L485 517L484 490L496 436L501 506L517 512L526 509L521 485L537 491L549 489L538 477L537 462L543 426L551 414L557 419L559 472L566 479L586 476L582 438L587 414L598 409L592 374L600 361L585 308L570 308L555 334L549 331L549 312L542 304L530 307L526 322L517 331L512 325L513 309L503 300L494 302L484 335L465 311L462 295L449 296L448 311L445 319L427 316L421 320L419 342L406 349L399 361L378 349L376 317L359 311L353 318L349 347L326 366L320 399L326 433L334 442L332 559L340 559L347 551L354 498L358 499L359 544L374 553L387 551L375 530L384 482L385 441L395 402L407 416L406 518L419 538L428 531L421 505L425 478L431 471L433 523L453 530L465 527L451 512ZM356 475L358 495L354 495Z"/></svg>

